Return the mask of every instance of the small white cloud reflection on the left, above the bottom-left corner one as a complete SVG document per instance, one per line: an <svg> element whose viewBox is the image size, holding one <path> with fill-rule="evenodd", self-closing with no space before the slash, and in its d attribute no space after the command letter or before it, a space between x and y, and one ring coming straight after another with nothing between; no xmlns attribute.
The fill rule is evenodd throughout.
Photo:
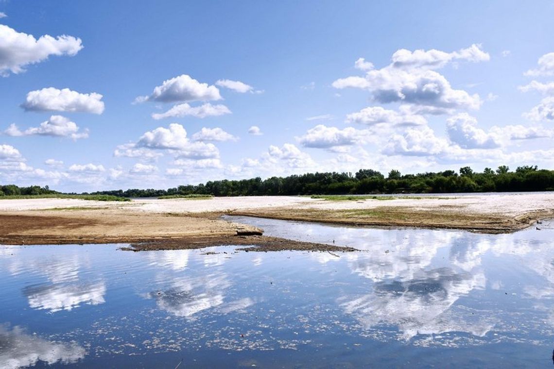
<svg viewBox="0 0 554 369"><path fill-rule="evenodd" d="M103 304L105 293L104 282L43 284L23 289L23 294L27 296L31 308L45 309L50 312L71 310L81 304Z"/></svg>

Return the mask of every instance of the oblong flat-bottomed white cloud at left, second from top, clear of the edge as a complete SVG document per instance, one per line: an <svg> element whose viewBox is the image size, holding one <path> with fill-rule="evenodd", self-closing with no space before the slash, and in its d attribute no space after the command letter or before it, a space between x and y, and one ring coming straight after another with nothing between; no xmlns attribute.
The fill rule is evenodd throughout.
<svg viewBox="0 0 554 369"><path fill-rule="evenodd" d="M101 114L104 102L100 93L79 93L70 89L48 87L27 93L21 105L26 111L64 111Z"/></svg>

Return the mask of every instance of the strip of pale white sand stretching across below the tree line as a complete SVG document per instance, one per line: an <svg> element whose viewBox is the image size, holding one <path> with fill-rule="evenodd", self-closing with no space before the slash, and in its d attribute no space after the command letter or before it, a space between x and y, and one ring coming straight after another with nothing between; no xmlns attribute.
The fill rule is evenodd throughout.
<svg viewBox="0 0 554 369"><path fill-rule="evenodd" d="M131 202L104 202L78 199L21 199L0 200L0 211L52 209L55 207L111 207L145 212L206 212L261 209L264 207L291 207L293 209L372 209L378 206L403 206L412 209L433 208L467 212L468 214L499 214L514 216L530 211L554 211L554 193L494 194L444 196L423 199L326 201L301 196L245 196L187 199L139 199Z"/></svg>

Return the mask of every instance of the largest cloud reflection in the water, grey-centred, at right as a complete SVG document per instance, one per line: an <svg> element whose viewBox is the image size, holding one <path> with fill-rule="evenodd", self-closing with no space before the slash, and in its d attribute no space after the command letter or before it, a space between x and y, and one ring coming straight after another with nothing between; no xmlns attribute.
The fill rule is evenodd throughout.
<svg viewBox="0 0 554 369"><path fill-rule="evenodd" d="M484 287L482 273L456 273L449 268L438 268L420 271L410 280L378 282L369 294L339 301L342 300L345 312L355 315L366 329L393 325L407 340L417 334L448 331L483 336L493 324L452 316L449 309L461 296Z"/></svg>

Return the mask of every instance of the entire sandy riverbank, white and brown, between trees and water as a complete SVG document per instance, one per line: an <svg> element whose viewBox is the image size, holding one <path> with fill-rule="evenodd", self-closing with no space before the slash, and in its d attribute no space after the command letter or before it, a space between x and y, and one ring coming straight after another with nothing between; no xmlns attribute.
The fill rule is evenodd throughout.
<svg viewBox="0 0 554 369"><path fill-rule="evenodd" d="M255 244L265 245L265 250L283 250L289 243L291 250L330 250L329 245L293 245L290 241L270 240L260 236L263 230L259 228L218 219L223 214L352 226L506 233L554 217L554 193L346 201L304 196L138 199L130 202L2 200L0 244L131 243L150 245L150 249L156 250L177 248L179 243L182 248ZM248 238L253 235L258 237ZM139 249L141 247L136 247Z"/></svg>

